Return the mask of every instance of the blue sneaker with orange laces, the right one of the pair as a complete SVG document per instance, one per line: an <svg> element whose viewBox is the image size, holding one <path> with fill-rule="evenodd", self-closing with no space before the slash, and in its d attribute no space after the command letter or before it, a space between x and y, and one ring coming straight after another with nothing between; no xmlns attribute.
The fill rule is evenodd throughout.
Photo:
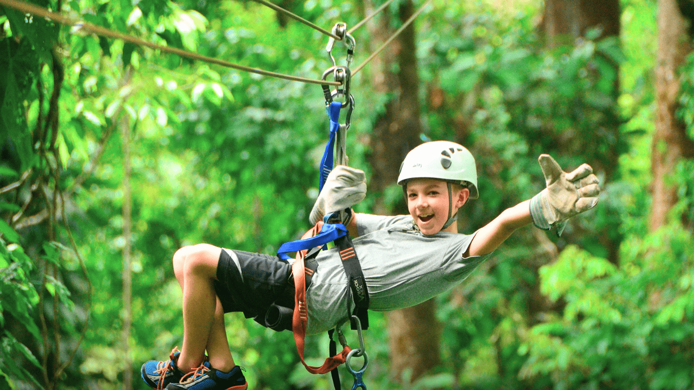
<svg viewBox="0 0 694 390"><path fill-rule="evenodd" d="M195 371L183 375L180 383L169 384L166 390L246 390L248 384L242 370L235 366L225 373L203 363Z"/></svg>

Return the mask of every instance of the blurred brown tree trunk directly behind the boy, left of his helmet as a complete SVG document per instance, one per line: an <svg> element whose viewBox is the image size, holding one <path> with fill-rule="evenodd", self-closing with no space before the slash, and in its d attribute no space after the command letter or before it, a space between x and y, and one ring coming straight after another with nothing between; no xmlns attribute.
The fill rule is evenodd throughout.
<svg viewBox="0 0 694 390"><path fill-rule="evenodd" d="M371 12L373 3L367 1L365 8L367 13ZM400 2L400 22L405 22L413 12L411 0ZM373 37L371 51L396 30L390 27L389 15L384 12L380 21L370 22L369 30ZM369 187L371 192L378 194L396 183L400 162L410 149L420 143L419 78L414 35L414 27L410 25L371 62L371 80L375 89L381 94L393 96L386 104L385 112L376 120L369 139L372 150L369 160L373 167ZM393 68L398 71L391 71ZM407 213L407 207L403 202L394 207L385 205L383 198L379 197L374 212L385 215ZM440 325L435 312L434 300L428 300L415 307L387 314L391 375L396 380L400 380L403 371L408 368L412 370L411 379L414 380L439 363Z"/></svg>

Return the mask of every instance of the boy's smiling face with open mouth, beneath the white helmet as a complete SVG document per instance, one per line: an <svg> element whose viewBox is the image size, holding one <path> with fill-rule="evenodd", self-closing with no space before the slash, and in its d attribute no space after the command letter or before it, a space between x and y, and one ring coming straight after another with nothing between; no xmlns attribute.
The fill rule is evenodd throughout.
<svg viewBox="0 0 694 390"><path fill-rule="evenodd" d="M467 201L469 190L454 186L451 215ZM425 235L441 231L448 221L448 183L432 178L416 178L407 182L407 209L419 230ZM457 232L455 223L446 230Z"/></svg>

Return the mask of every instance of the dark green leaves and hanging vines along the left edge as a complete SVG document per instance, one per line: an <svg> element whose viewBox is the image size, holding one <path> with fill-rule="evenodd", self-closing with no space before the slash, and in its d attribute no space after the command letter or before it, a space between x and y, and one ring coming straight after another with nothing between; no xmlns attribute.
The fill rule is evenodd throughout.
<svg viewBox="0 0 694 390"><path fill-rule="evenodd" d="M65 81L56 49L58 28L45 21L22 24L15 14L6 10L12 31L20 33L0 40L0 76L8 80L0 86L0 122L8 129L1 151L0 300L13 304L1 307L0 326L6 332L0 336L0 387L3 382L13 387L12 382L21 381L52 390L63 380L85 337L92 285L65 212L66 198L74 187L66 186L57 146ZM46 31L53 35L37 44L33 37ZM44 72L46 67L50 72ZM31 127L25 103L29 99L37 101ZM19 178L6 184L12 176ZM64 264L67 255L76 259L87 285L83 296L78 296L83 300L82 316L75 309L78 291L65 282L70 272ZM74 328L72 319L78 323ZM29 334L22 332L22 325ZM13 361L18 352L33 368Z"/></svg>

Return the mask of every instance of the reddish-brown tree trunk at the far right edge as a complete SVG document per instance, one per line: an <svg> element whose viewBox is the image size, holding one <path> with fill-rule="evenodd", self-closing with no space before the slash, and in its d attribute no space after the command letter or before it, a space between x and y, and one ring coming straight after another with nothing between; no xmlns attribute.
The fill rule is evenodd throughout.
<svg viewBox="0 0 694 390"><path fill-rule="evenodd" d="M670 209L677 203L677 188L668 184L667 176L675 171L679 160L694 153L684 124L675 117L680 83L677 69L692 49L686 28L677 1L658 0L658 61L655 69L657 112L651 146L653 201L650 231L666 224Z"/></svg>

